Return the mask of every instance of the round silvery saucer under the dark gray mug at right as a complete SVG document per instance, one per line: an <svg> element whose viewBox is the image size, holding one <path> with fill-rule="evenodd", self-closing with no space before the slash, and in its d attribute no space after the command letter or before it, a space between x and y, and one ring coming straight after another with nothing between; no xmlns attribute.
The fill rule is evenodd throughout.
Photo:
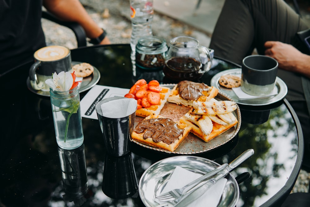
<svg viewBox="0 0 310 207"><path fill-rule="evenodd" d="M263 106L263 105L269 105L277 101L280 101L282 98L286 96L287 86L283 82L283 80L277 77L276 79L276 88L278 92L277 95L268 96L268 97L257 97L257 98L252 98L252 99L239 99L232 89L225 88L219 84L219 79L221 78L221 76L228 75L228 74L236 75L241 78L241 68L224 70L216 74L211 79L211 86L214 86L215 88L219 89L219 92L226 94L228 97L230 97L232 100L234 100L238 104L250 105L250 106Z"/></svg>

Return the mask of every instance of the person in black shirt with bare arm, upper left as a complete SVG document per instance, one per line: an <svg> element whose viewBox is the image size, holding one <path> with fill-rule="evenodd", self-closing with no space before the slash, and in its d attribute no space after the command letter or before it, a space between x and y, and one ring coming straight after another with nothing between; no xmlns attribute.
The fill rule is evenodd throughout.
<svg viewBox="0 0 310 207"><path fill-rule="evenodd" d="M46 46L42 6L60 20L79 23L88 38L104 32L78 0L0 0L0 75L33 61L33 53ZM108 37L100 44L110 44Z"/></svg>

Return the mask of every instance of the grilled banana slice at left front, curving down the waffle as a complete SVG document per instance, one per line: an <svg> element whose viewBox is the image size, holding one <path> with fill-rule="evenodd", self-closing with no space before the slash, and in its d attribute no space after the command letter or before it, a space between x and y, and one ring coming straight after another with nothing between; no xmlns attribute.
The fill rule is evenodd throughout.
<svg viewBox="0 0 310 207"><path fill-rule="evenodd" d="M196 124L200 128L201 132L205 135L211 133L213 124L207 115L194 114L189 111L184 115L184 118Z"/></svg>

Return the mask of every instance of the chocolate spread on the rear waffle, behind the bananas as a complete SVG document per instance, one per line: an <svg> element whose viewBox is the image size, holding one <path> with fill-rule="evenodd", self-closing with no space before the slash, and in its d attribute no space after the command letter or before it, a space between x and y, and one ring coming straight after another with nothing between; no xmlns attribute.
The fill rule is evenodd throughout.
<svg viewBox="0 0 310 207"><path fill-rule="evenodd" d="M195 83L184 80L178 83L179 95L185 100L197 100L203 94L203 91L209 91L209 87L204 83Z"/></svg>

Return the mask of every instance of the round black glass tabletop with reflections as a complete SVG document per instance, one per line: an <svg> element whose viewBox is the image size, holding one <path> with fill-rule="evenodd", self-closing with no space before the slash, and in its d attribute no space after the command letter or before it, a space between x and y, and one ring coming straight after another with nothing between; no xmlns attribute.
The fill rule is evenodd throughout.
<svg viewBox="0 0 310 207"><path fill-rule="evenodd" d="M72 61L88 62L100 71L97 84L130 88L144 78L170 83L161 71L137 70L133 76L130 45L81 47ZM32 63L0 77L1 165L0 204L5 206L144 206L139 180L155 162L176 156L132 143L131 153L107 155L98 120L83 118L84 144L75 150L58 148L49 97L31 92L26 79ZM202 81L239 66L214 58ZM169 82L168 82L169 81ZM88 92L81 92L81 99ZM303 157L303 137L294 110L282 99L267 106L242 106L241 127L228 143L193 154L219 164L243 151L255 154L232 171L240 180L237 206L279 206L290 193ZM179 155L184 156L184 155Z"/></svg>

